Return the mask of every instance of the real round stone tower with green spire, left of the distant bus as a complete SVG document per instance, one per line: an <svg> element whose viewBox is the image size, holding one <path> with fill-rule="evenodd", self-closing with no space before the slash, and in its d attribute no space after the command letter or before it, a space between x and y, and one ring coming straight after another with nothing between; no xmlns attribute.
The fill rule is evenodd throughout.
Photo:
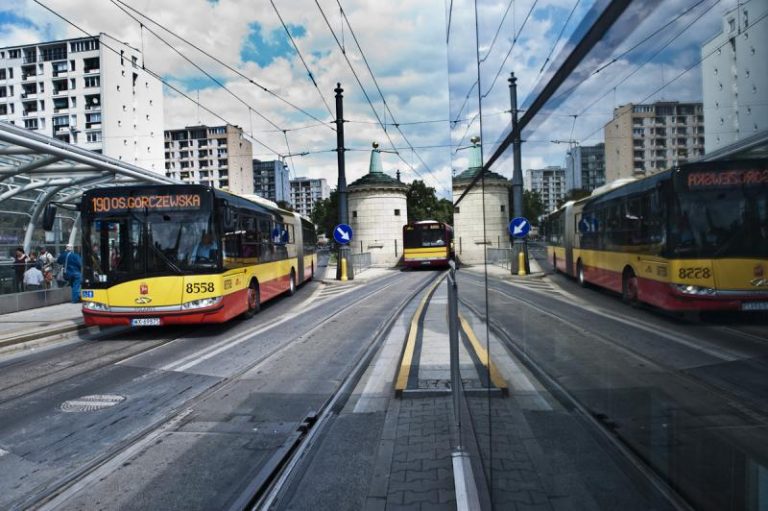
<svg viewBox="0 0 768 511"><path fill-rule="evenodd" d="M347 187L352 252L369 252L373 266L394 266L403 255L408 223L407 186L388 176L381 153L371 151L369 173Z"/></svg>

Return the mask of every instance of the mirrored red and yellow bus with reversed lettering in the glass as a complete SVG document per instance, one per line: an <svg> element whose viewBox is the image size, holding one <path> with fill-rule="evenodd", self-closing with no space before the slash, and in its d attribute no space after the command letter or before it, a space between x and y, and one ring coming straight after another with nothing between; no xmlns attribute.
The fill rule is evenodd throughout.
<svg viewBox="0 0 768 511"><path fill-rule="evenodd" d="M768 160L693 163L566 204L556 271L668 310L768 310Z"/></svg>

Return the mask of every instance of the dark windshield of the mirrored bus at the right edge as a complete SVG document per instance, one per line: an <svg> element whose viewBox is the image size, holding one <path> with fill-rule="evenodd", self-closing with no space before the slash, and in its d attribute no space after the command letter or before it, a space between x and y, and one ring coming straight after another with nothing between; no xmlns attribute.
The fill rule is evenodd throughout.
<svg viewBox="0 0 768 511"><path fill-rule="evenodd" d="M741 189L682 192L669 218L673 256L766 257L768 199Z"/></svg>

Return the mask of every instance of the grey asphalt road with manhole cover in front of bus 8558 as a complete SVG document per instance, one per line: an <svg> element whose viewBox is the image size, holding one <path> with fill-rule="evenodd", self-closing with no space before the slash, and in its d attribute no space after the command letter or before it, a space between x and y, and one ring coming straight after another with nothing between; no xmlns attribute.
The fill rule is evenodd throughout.
<svg viewBox="0 0 768 511"><path fill-rule="evenodd" d="M0 366L0 508L52 494L56 509L228 507L428 278L313 282L252 320L133 331Z"/></svg>

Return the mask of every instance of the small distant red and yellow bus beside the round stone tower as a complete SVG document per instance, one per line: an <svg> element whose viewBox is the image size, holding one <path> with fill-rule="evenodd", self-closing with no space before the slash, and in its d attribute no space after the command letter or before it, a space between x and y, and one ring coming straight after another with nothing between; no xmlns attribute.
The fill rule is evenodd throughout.
<svg viewBox="0 0 768 511"><path fill-rule="evenodd" d="M453 228L436 220L403 226L403 263L407 268L448 266L453 258Z"/></svg>

